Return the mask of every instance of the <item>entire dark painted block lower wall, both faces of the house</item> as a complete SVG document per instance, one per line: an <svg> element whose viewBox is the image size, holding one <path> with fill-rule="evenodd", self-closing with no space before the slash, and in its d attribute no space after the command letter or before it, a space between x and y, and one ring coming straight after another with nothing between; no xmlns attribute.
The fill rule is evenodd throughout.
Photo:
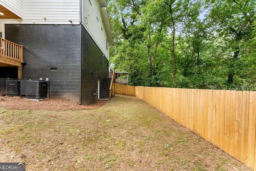
<svg viewBox="0 0 256 171"><path fill-rule="evenodd" d="M82 93L82 103L93 103L98 79L102 92L108 60L80 25L6 24L5 38L23 46L23 79L49 78L51 96L80 101Z"/></svg>

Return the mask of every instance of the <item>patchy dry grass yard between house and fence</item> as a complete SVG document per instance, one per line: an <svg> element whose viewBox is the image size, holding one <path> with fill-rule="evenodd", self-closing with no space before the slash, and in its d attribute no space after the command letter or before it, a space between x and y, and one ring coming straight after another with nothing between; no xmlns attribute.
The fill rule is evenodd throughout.
<svg viewBox="0 0 256 171"><path fill-rule="evenodd" d="M90 110L0 106L0 161L27 171L250 170L136 97Z"/></svg>

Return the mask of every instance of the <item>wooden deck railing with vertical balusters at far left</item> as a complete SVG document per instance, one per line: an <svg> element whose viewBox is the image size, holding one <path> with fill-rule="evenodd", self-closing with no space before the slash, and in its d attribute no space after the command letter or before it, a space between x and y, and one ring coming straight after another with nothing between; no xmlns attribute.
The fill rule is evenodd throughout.
<svg viewBox="0 0 256 171"><path fill-rule="evenodd" d="M22 46L0 38L0 57L16 62L23 62Z"/></svg>

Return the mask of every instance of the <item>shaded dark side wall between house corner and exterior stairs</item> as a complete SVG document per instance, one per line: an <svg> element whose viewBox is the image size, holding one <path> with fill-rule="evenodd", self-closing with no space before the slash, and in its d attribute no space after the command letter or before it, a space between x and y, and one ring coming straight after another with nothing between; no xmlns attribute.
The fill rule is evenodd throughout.
<svg viewBox="0 0 256 171"><path fill-rule="evenodd" d="M82 103L88 104L96 100L93 93L98 88L98 79L102 92L107 77L107 63L108 60L82 27Z"/></svg>

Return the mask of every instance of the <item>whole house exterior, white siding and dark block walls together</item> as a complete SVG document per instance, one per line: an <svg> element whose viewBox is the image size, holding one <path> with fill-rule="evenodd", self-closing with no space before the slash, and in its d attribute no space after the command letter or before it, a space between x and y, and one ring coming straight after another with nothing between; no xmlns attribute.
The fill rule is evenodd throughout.
<svg viewBox="0 0 256 171"><path fill-rule="evenodd" d="M100 2L90 0L91 6L89 0L16 1L22 2L22 19L0 19L0 32L23 46L23 79L49 78L51 96L93 103L98 79L102 91L107 78L107 37L112 39L110 26L103 24Z"/></svg>

